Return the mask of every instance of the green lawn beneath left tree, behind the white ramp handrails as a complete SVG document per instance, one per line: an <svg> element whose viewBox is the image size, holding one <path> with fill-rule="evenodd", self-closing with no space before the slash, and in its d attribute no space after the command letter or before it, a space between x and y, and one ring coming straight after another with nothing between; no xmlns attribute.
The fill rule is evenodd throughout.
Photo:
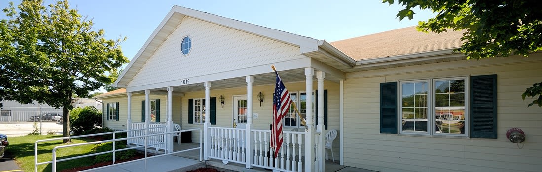
<svg viewBox="0 0 542 172"><path fill-rule="evenodd" d="M47 138L58 138L62 137L61 135L28 135L28 136L19 136L19 137L9 137L9 147L7 151L15 158L19 166L24 171L34 171L34 142L37 140L43 140ZM94 140L88 138L76 138L72 139L72 143L85 143L91 142ZM52 161L53 160L53 148L64 145L62 140L49 141L49 142L40 142L38 144L38 162ZM63 148L57 149L56 155L57 160L67 157L85 155L93 153L93 148L96 147L94 144L82 145L79 147L73 148ZM56 164L57 171L62 171L63 169L70 169L74 167L81 166L90 166L93 164L94 157L85 157L78 158L75 160L58 162ZM52 171L53 164L42 164L38 166L38 171Z"/></svg>

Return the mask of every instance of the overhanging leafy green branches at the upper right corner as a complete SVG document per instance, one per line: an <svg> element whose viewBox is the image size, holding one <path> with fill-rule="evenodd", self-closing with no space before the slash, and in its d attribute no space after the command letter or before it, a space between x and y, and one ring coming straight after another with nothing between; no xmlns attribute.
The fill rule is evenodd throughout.
<svg viewBox="0 0 542 172"><path fill-rule="evenodd" d="M447 29L463 30L464 41L457 51L464 52L467 59L508 57L542 50L542 3L539 1L453 1L453 0L383 0L382 3L398 2L405 9L397 17L414 17L413 8L430 9L434 18L420 22L418 30L446 32ZM529 106L542 107L542 82L533 84L522 95L536 97Z"/></svg>

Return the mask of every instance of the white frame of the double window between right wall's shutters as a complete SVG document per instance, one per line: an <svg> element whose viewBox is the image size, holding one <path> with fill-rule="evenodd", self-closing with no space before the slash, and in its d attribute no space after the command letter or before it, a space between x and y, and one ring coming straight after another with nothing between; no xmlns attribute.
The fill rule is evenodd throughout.
<svg viewBox="0 0 542 172"><path fill-rule="evenodd" d="M445 77L445 78L431 78L426 80L409 80L409 81L400 81L398 87L398 130L401 135L426 135L426 136L446 136L446 137L469 137L470 134L470 83L468 76L460 77ZM463 134L449 134L449 133L437 133L435 131L435 121L436 121L436 94L435 87L437 81L448 81L448 80L463 80L464 81L464 133ZM403 131L403 84L404 83L416 83L416 82L427 82L427 127L428 131Z"/></svg>

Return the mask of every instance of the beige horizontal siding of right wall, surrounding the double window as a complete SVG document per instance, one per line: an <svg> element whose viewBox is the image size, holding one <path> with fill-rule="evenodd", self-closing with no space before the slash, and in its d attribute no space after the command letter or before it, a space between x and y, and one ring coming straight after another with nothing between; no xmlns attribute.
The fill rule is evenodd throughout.
<svg viewBox="0 0 542 172"><path fill-rule="evenodd" d="M523 101L521 94L542 81L540 57L532 54L347 74L344 164L378 171L539 171L542 109L527 108L532 100ZM497 75L498 138L379 133L379 83L490 74ZM506 138L510 128L524 130L525 142L510 142Z"/></svg>

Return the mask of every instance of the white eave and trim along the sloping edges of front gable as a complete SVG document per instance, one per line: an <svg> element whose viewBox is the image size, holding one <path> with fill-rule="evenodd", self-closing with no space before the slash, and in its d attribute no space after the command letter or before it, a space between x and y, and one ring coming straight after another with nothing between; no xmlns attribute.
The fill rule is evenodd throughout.
<svg viewBox="0 0 542 172"><path fill-rule="evenodd" d="M162 45L162 43L167 39L167 37L170 36L170 34L177 28L177 26L186 16L222 25L223 27L240 30L249 34L269 38L274 41L294 45L299 47L300 54L321 50L319 49L319 45L322 44L322 41L318 41L317 39L295 35L285 31L270 29L260 25L241 22L235 19L174 5L171 11L158 25L156 30L154 30L154 32L151 34L149 39L147 39L147 41L143 44L143 47L141 47L137 54L135 54L132 61L128 63L126 70L119 75L119 79L115 81L113 86L117 88L126 88L127 84L130 83L131 78L137 74L141 67L143 67L143 65L149 60L154 52L160 47L160 45ZM340 58L349 58L336 48L332 47L331 49L331 55L339 56Z"/></svg>

